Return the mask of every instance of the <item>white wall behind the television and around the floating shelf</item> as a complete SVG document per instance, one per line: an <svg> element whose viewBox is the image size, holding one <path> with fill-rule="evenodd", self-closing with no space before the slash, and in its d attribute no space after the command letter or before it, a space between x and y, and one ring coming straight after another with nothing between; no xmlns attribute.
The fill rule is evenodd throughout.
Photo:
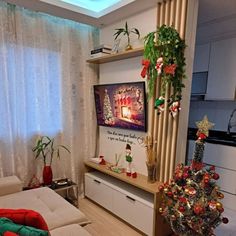
<svg viewBox="0 0 236 236"><path fill-rule="evenodd" d="M128 26L138 28L141 37L143 37L148 32L156 29L156 8L149 9L128 19L123 19L121 22L102 28L100 32L100 43L113 45L113 34L115 33L115 29L124 27L126 21L128 22ZM142 40L137 40L136 35L131 38L131 43L134 48L143 46ZM125 44L126 38L122 38L120 50L123 50ZM140 76L142 69L141 60L142 57L135 57L122 61L101 64L99 73L100 84L144 81ZM143 137L146 133L106 127L99 127L99 132L99 155L103 155L107 161L114 163L115 154L121 154L123 166L125 167L126 142L108 139L109 137L116 138L119 134L122 136L125 135L125 141L129 140L129 142L132 143L131 148L132 155L134 157L133 164L136 171L147 175L145 150L144 147L142 147L137 141L137 137ZM113 132L117 135L110 134Z"/></svg>

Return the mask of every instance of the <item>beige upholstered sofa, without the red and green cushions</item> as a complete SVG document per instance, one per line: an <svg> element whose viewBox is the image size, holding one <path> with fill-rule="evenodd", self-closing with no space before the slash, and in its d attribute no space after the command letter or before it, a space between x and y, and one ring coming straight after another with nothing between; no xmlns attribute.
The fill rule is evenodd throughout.
<svg viewBox="0 0 236 236"><path fill-rule="evenodd" d="M51 236L89 236L82 227L89 223L76 207L48 187L22 191L16 176L0 178L0 208L31 209L46 221Z"/></svg>

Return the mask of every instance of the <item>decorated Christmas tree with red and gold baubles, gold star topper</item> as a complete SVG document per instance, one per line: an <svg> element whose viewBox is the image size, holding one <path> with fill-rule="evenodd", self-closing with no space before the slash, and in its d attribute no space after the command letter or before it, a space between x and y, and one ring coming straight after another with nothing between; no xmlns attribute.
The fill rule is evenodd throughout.
<svg viewBox="0 0 236 236"><path fill-rule="evenodd" d="M224 208L219 200L224 195L216 184L219 175L214 166L205 168L202 162L205 139L214 124L206 116L196 124L198 138L191 165L179 164L173 179L160 186L163 201L159 211L178 235L210 236L228 219L221 216Z"/></svg>

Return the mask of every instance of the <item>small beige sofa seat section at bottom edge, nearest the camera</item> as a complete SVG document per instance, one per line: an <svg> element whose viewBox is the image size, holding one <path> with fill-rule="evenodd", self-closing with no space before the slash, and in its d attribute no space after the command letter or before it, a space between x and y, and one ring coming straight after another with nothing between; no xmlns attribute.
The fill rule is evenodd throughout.
<svg viewBox="0 0 236 236"><path fill-rule="evenodd" d="M80 225L71 224L59 227L50 231L51 236L90 236L90 234Z"/></svg>

